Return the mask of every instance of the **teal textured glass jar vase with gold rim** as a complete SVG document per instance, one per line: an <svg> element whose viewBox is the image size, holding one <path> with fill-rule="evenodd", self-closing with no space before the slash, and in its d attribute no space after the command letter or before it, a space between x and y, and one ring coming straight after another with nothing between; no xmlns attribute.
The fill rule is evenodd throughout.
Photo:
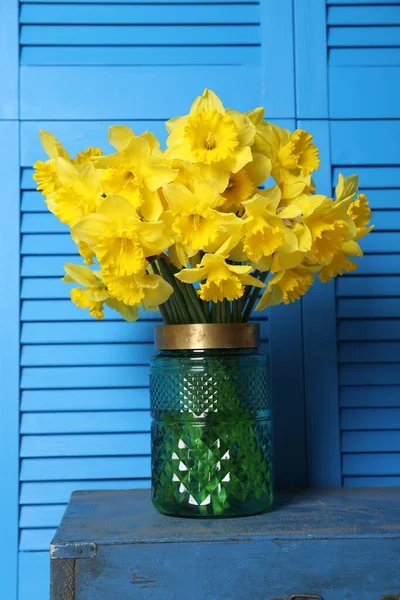
<svg viewBox="0 0 400 600"><path fill-rule="evenodd" d="M161 351L150 369L155 508L185 517L269 510L269 373L256 347L258 326L157 329Z"/></svg>

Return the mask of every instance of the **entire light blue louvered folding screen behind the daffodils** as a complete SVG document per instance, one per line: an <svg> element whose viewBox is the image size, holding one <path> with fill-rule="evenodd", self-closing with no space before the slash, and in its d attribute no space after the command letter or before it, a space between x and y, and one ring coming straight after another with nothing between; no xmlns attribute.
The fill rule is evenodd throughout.
<svg viewBox="0 0 400 600"><path fill-rule="evenodd" d="M360 173L375 210L356 274L262 321L281 484L400 481L400 7L385 0L0 2L0 580L48 597L71 491L149 485L153 322L68 301L65 228L34 191L38 130L69 151L128 123L165 139L204 87L312 131L316 177ZM5 551L6 548L6 551ZM4 554L4 552L6 552Z"/></svg>

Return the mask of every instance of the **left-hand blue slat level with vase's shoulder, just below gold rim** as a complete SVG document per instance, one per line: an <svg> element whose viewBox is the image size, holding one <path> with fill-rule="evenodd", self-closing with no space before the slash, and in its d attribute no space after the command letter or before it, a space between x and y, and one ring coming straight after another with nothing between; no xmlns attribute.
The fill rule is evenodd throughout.
<svg viewBox="0 0 400 600"><path fill-rule="evenodd" d="M154 353L152 343L23 346L21 366L147 365Z"/></svg>

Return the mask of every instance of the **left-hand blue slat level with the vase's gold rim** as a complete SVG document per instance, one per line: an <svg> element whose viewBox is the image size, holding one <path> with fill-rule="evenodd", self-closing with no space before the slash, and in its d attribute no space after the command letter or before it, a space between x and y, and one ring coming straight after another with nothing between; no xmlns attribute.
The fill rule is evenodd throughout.
<svg viewBox="0 0 400 600"><path fill-rule="evenodd" d="M24 323L21 341L24 344L69 344L104 342L150 342L152 323L82 322Z"/></svg>

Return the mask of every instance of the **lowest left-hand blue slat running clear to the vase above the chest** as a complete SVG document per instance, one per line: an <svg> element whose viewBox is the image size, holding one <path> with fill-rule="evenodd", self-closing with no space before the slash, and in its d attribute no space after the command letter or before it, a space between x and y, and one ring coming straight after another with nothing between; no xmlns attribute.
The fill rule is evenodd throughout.
<svg viewBox="0 0 400 600"><path fill-rule="evenodd" d="M150 475L150 457L24 458L21 481L139 479Z"/></svg>

